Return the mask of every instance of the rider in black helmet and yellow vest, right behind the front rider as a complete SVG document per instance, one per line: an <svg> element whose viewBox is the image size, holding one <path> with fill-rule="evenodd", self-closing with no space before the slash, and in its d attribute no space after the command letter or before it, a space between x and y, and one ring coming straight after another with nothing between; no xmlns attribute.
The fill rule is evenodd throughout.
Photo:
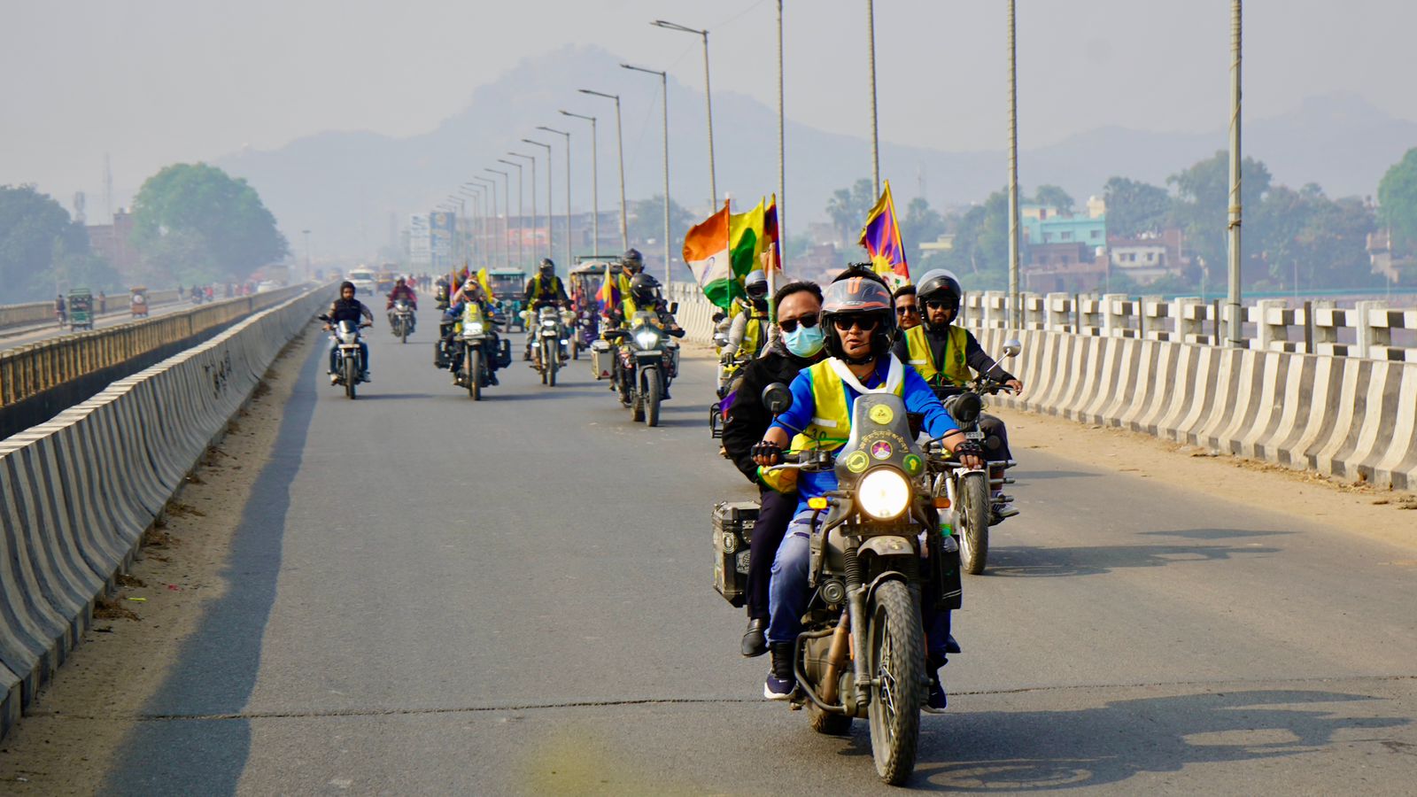
<svg viewBox="0 0 1417 797"><path fill-rule="evenodd" d="M917 284L920 303L925 308L924 323L910 329L896 342L896 356L905 360L925 377L937 393L949 394L962 389L973 374L988 373L1009 386L1015 393L1023 393L1019 377L999 367L993 357L979 346L979 340L964 326L955 326L959 315L959 301L964 289L959 279L944 268L927 271ZM985 440L996 438L998 450L989 451L990 459L1012 459L1009 452L1009 430L996 416L979 416L979 431ZM1003 505L995 506L995 513ZM998 519L1003 519L999 516Z"/></svg>

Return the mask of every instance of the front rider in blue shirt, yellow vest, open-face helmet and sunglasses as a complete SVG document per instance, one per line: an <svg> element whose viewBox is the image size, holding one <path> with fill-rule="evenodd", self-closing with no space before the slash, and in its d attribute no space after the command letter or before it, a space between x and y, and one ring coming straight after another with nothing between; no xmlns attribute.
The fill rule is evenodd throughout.
<svg viewBox="0 0 1417 797"><path fill-rule="evenodd" d="M945 448L961 462L982 467L979 445L965 440L925 380L891 355L896 312L890 291L877 275L869 269L852 268L837 277L823 292L822 326L828 359L792 380L792 407L772 421L752 448L752 458L758 465L777 464L789 441L795 450L842 448L850 437L852 404L856 397L869 391L890 391L904 400L907 411L920 413L925 431L931 437L942 437ZM781 472L771 475L779 476ZM796 689L792 650L802 630L802 611L811 597L806 570L816 515L808 508L808 499L836 486L835 471L802 471L796 479L798 512L778 547L768 587L772 671L762 686L762 695L769 701L789 699ZM927 669L931 674L925 710L939 712L945 708L945 692L938 669L944 667L951 644L949 613L937 611L935 600L930 596L922 597L921 611L930 657Z"/></svg>

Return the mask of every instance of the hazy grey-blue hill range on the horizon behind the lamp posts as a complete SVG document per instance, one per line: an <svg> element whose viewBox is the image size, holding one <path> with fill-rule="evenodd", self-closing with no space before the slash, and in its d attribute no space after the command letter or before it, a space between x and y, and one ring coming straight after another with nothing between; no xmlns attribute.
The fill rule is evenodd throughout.
<svg viewBox="0 0 1417 797"><path fill-rule="evenodd" d="M497 81L473 91L466 106L438 129L394 139L367 132L326 132L271 152L245 150L217 165L249 180L281 220L292 241L298 231L316 233L324 254L361 254L388 241L390 214L404 225L410 213L439 203L459 183L500 167L507 150L541 150L521 143L540 138L555 150L555 208L564 203L560 136L537 125L571 130L572 201L588 210L588 125L557 111L599 116L601 208L618 201L615 115L609 101L578 95L577 88L619 91L625 125L625 180L631 199L662 190L659 87L648 75L619 68L621 58L599 47L567 47L530 57ZM670 78L670 190L674 200L708 208L707 140L703 95ZM863 125L864 126L864 125ZM890 138L890 130L883 130ZM1027 140L1027 129L1022 130ZM825 217L835 189L870 174L870 146L862 138L828 133L788 122L789 228ZM1002 142L1000 142L1002 143ZM718 190L757 199L775 190L777 112L740 94L714 95L714 146ZM1020 179L1026 189L1060 184L1076 197L1101 191L1112 174L1165 183L1168 174L1226 146L1226 132L1156 133L1100 128L1046 147L1024 147ZM1246 153L1264 160L1280 183L1316 182L1331 196L1373 194L1383 172L1411 146L1417 123L1386 116L1355 95L1316 96L1297 111L1246 122ZM927 179L927 199L941 207L983 199L1005 184L1006 162L998 152L952 153L883 143L881 172L897 200L917 193ZM513 172L514 174L514 172ZM530 177L530 174L527 174ZM544 186L544 176L538 180ZM544 193L544 191L541 191ZM513 187L514 197L514 187ZM540 207L544 211L544 197ZM530 210L530 187L527 189ZM737 206L738 203L735 203ZM516 210L516 208L513 208Z"/></svg>

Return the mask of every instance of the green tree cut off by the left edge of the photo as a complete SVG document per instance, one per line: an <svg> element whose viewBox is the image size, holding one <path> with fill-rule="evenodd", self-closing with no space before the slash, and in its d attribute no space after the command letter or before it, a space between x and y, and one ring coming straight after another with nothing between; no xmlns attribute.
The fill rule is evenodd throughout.
<svg viewBox="0 0 1417 797"><path fill-rule="evenodd" d="M0 186L0 303L67 288L115 291L119 275L89 250L88 231L34 186Z"/></svg>

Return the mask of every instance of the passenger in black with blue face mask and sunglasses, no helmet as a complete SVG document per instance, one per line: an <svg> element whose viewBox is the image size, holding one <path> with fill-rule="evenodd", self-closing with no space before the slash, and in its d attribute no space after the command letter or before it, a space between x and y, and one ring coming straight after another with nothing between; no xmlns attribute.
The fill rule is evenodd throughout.
<svg viewBox="0 0 1417 797"><path fill-rule="evenodd" d="M778 311L777 343L761 357L743 367L737 389L724 398L723 447L733 464L750 482L758 486L758 520L752 526L752 547L748 556L748 628L743 634L743 655L760 657L768 652L768 579L772 556L782 543L788 522L796 513L795 489L779 492L758 476L752 461L752 445L762 440L772 423L772 413L762 406L762 389L796 379L798 372L820 362L825 355L822 325L822 288L816 282L788 282L772 298Z"/></svg>

